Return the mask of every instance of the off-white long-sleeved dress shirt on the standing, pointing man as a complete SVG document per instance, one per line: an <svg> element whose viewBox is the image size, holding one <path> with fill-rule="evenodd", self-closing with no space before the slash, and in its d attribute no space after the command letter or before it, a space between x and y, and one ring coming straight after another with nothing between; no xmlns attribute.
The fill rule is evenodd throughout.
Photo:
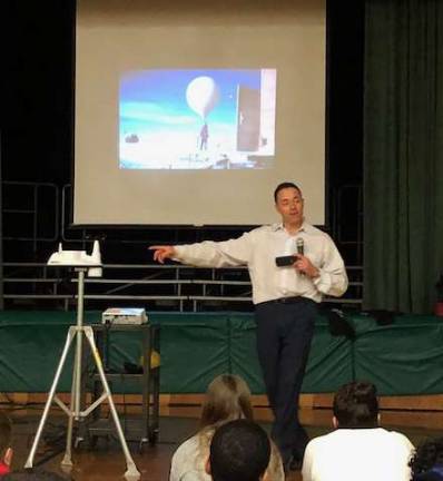
<svg viewBox="0 0 443 481"><path fill-rule="evenodd" d="M297 253L303 238L304 255L319 271L311 279L293 266L277 267L275 258ZM323 295L341 296L347 288L346 269L335 244L323 230L304 223L291 235L282 224L266 225L225 242L205 240L175 246L175 259L200 267L247 265L253 284L253 302L304 296L321 302Z"/></svg>

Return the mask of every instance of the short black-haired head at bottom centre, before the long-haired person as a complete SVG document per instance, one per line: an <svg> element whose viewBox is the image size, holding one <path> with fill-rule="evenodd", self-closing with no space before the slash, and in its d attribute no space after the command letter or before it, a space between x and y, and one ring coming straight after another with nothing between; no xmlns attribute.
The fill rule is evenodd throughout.
<svg viewBox="0 0 443 481"><path fill-rule="evenodd" d="M269 463L266 432L248 420L230 421L219 428L210 443L214 481L258 481Z"/></svg>

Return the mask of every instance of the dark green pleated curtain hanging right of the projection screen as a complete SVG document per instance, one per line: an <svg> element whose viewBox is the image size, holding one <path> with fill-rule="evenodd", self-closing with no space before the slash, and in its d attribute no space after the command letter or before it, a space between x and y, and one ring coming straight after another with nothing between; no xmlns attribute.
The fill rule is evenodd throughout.
<svg viewBox="0 0 443 481"><path fill-rule="evenodd" d="M367 0L364 305L427 313L443 271L443 1Z"/></svg>

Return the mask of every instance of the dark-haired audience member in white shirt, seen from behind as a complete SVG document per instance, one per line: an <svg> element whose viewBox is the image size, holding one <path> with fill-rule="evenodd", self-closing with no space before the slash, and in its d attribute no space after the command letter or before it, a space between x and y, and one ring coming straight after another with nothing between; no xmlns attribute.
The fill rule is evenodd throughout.
<svg viewBox="0 0 443 481"><path fill-rule="evenodd" d="M334 399L335 431L313 439L303 460L304 481L410 481L414 446L378 425L375 386L352 382Z"/></svg>

